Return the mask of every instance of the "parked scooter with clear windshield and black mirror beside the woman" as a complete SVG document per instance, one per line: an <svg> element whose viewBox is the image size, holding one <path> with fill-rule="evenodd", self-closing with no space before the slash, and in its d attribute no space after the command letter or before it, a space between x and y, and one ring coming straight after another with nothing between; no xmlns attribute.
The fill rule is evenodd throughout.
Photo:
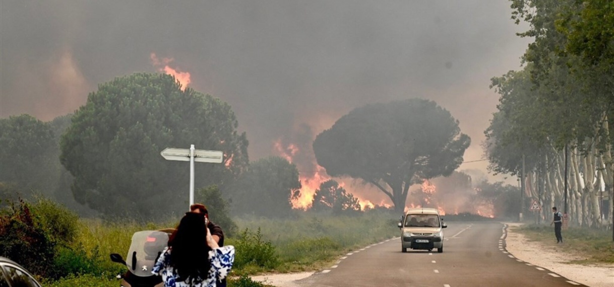
<svg viewBox="0 0 614 287"><path fill-rule="evenodd" d="M163 287L162 278L152 274L153 265L168 245L169 235L174 229L134 232L126 262L120 254L111 254L111 261L125 265L128 270L118 275L122 287Z"/></svg>

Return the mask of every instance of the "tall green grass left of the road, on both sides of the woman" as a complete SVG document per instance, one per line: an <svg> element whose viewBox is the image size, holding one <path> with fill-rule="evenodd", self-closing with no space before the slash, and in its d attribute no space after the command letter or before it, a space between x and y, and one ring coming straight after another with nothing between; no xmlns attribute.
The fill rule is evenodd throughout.
<svg viewBox="0 0 614 287"><path fill-rule="evenodd" d="M75 250L83 250L95 262L94 274L70 275L57 281L45 281L45 286L119 286L115 275L125 267L111 262L109 254L126 256L132 234L146 229L174 227L179 221L161 224L139 224L133 221L106 223L102 220L79 220ZM233 269L229 286L264 286L249 280L246 275L261 272L300 272L318 270L331 264L350 250L398 235L398 219L387 212L373 211L357 216L330 216L305 213L293 219L267 218L235 219L239 231L247 229L248 237L228 238L226 245L235 245L237 256L242 248L258 250L271 246L274 256L267 263L252 263ZM260 234L257 234L258 229ZM259 237L258 237L259 236ZM259 238L259 239L257 239ZM258 241L258 242L254 242ZM251 249L249 249L251 248ZM252 251L253 252L253 251ZM258 258L256 258L258 259ZM237 259L235 259L237 260Z"/></svg>

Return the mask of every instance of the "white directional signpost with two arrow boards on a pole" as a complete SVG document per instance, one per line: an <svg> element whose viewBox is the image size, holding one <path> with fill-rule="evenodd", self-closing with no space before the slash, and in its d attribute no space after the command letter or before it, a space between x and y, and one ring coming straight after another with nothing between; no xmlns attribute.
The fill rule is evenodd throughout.
<svg viewBox="0 0 614 287"><path fill-rule="evenodd" d="M169 161L190 162L190 205L194 204L194 162L199 163L222 163L224 153L219 150L195 150L194 145L190 148L165 148L160 152L163 158Z"/></svg>

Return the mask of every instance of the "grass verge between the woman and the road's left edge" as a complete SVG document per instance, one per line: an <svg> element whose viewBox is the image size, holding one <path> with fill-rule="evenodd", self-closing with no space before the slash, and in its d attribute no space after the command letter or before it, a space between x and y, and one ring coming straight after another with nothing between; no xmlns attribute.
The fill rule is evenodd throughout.
<svg viewBox="0 0 614 287"><path fill-rule="evenodd" d="M398 219L391 213L378 211L357 216L305 213L286 220L247 218L235 221L239 230L260 228L263 240L270 241L279 255L280 264L275 269L252 266L241 270L247 274L317 270L350 250L389 239L399 232ZM233 240L228 244L233 244Z"/></svg>

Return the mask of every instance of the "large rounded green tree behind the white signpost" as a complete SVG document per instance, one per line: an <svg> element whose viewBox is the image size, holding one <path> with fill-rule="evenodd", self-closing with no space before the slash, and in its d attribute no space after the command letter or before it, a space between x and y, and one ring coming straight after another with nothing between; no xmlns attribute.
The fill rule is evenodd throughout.
<svg viewBox="0 0 614 287"><path fill-rule="evenodd" d="M166 161L166 147L222 150L222 164L197 164L195 186L223 186L247 165L247 139L230 105L175 78L139 73L90 93L61 137L72 193L107 215L150 217L187 207L189 168Z"/></svg>

